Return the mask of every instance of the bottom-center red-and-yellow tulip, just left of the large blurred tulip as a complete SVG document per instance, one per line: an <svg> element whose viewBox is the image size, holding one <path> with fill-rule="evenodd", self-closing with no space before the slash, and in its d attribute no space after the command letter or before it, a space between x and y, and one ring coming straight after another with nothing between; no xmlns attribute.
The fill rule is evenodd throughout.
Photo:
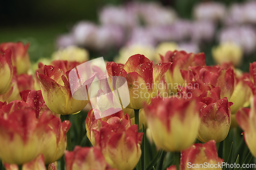
<svg viewBox="0 0 256 170"><path fill-rule="evenodd" d="M99 120L99 131L93 130L95 146L107 163L119 170L132 170L141 156L140 144L143 133L138 133L138 126L126 128L122 120L112 117L109 124ZM131 125L131 123L130 123Z"/></svg>

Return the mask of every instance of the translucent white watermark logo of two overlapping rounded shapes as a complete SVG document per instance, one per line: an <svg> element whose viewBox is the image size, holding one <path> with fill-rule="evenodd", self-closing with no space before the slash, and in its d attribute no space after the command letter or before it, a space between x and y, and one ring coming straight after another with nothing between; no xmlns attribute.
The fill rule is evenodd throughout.
<svg viewBox="0 0 256 170"><path fill-rule="evenodd" d="M91 102L96 119L117 113L130 104L126 79L109 77L103 57L73 68L69 83L74 99Z"/></svg>

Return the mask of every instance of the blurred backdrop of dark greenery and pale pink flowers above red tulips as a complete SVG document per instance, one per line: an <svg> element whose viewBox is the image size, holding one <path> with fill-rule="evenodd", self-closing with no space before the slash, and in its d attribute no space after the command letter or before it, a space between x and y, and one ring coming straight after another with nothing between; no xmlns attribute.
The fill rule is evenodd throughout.
<svg viewBox="0 0 256 170"><path fill-rule="evenodd" d="M121 63L136 53L158 62L177 49L248 71L256 61L255 9L245 0L9 0L0 6L0 43L30 42L32 62L74 45Z"/></svg>

